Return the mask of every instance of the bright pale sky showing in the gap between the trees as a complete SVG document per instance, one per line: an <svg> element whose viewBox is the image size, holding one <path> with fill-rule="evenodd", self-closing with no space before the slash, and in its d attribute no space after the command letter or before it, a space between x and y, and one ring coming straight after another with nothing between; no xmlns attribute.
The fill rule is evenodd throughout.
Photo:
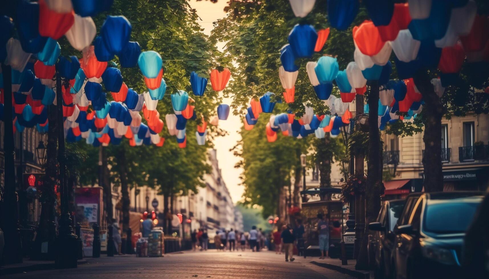
<svg viewBox="0 0 489 279"><path fill-rule="evenodd" d="M197 14L202 21L198 21L200 26L204 28L204 33L210 35L213 29L212 22L222 19L226 16L223 9L227 5L227 0L218 0L217 3L211 1L197 1L190 0L190 6L197 10ZM218 47L222 50L224 43L218 43ZM231 73L232 77L232 73ZM223 99L224 104L231 104L230 98ZM241 196L244 191L244 187L239 185L241 180L239 175L243 172L242 169L235 169L234 165L240 160L235 157L229 149L236 145L236 142L241 140L239 129L241 128L241 119L239 116L233 115L232 111L229 113L227 120L220 120L219 127L226 130L229 134L224 137L218 137L214 141L215 148L217 150L217 158L219 160L219 167L222 169L222 176L224 182L229 189L233 202L241 200Z"/></svg>

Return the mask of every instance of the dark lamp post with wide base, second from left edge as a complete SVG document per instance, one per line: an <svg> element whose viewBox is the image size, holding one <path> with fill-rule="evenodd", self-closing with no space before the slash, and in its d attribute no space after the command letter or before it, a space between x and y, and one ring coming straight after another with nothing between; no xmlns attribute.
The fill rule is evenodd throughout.
<svg viewBox="0 0 489 279"><path fill-rule="evenodd" d="M63 125L63 99L61 90L61 76L56 64L56 107L58 110L58 164L59 187L61 200L61 215L58 221L58 238L56 239L57 255L55 264L58 268L77 267L77 247L73 230L73 219L68 210L68 185L66 181L67 155L65 150L65 130Z"/></svg>

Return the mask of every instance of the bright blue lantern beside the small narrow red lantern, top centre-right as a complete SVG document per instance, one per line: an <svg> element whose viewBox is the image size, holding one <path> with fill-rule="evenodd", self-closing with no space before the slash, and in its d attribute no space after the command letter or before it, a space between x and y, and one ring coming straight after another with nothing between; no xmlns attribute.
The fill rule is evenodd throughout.
<svg viewBox="0 0 489 279"><path fill-rule="evenodd" d="M317 41L312 25L296 24L289 33L289 44L296 58L311 58Z"/></svg>

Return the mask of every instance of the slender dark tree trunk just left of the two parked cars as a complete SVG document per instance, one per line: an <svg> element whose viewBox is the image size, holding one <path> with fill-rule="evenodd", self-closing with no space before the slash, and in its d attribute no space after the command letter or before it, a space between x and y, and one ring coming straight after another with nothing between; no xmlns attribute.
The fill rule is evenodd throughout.
<svg viewBox="0 0 489 279"><path fill-rule="evenodd" d="M368 98L370 111L378 110L378 84L372 82L370 86L370 94ZM380 131L378 130L378 118L369 117L369 161L367 169L367 187L365 189L365 224L373 220L380 210L380 195L384 192L382 184L382 146L380 143ZM368 227L365 226L365 231L362 237L360 253L356 260L356 269L368 270Z"/></svg>

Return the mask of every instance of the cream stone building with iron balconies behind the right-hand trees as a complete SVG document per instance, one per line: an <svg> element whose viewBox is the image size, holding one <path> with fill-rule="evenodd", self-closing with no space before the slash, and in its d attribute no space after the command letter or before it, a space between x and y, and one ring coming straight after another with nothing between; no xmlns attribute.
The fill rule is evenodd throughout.
<svg viewBox="0 0 489 279"><path fill-rule="evenodd" d="M489 186L489 115L467 113L442 120L444 191L484 191ZM424 133L397 137L383 133L386 197L422 191Z"/></svg>

